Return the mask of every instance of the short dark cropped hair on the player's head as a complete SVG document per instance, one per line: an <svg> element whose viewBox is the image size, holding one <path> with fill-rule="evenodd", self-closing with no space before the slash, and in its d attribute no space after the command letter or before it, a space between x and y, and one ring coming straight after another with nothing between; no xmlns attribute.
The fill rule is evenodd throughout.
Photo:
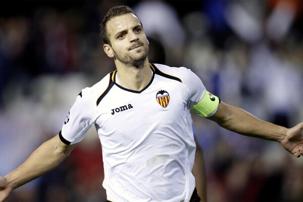
<svg viewBox="0 0 303 202"><path fill-rule="evenodd" d="M104 19L101 23L101 26L100 26L101 37L102 37L102 40L105 44L111 44L110 39L109 39L109 34L108 34L108 31L107 31L107 26L106 26L107 22L110 21L114 17L121 16L121 15L128 14L128 13L132 13L135 16L137 16L135 14L135 12L128 6L116 6L116 7L111 8L108 11L108 13L104 17ZM140 19L139 19L139 21L140 21L140 24L142 26L142 22L141 22Z"/></svg>

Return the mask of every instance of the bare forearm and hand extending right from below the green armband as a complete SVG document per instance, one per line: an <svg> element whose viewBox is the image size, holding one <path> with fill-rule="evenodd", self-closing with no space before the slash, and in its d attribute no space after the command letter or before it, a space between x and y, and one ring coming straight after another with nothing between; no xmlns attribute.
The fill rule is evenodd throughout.
<svg viewBox="0 0 303 202"><path fill-rule="evenodd" d="M296 157L303 155L303 122L293 128L278 126L221 102L217 112L208 117L220 126L236 133L280 142Z"/></svg>

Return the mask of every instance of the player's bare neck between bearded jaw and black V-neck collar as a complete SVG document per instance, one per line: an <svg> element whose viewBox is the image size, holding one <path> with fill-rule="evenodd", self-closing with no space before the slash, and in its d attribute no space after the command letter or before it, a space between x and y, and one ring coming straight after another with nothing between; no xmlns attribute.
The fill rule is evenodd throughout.
<svg viewBox="0 0 303 202"><path fill-rule="evenodd" d="M153 76L150 71L148 60L145 60L140 68L117 63L116 67L119 85L130 90L142 90L150 82L151 77Z"/></svg>

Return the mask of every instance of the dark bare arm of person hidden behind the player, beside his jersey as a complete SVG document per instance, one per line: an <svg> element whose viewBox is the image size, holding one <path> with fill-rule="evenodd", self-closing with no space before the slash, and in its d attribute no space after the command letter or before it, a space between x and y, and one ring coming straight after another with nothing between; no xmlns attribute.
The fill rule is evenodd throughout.
<svg viewBox="0 0 303 202"><path fill-rule="evenodd" d="M203 149L199 146L197 139L196 153L194 157L194 164L192 168L192 174L195 177L196 189L201 201L207 201L207 177L204 161Z"/></svg>

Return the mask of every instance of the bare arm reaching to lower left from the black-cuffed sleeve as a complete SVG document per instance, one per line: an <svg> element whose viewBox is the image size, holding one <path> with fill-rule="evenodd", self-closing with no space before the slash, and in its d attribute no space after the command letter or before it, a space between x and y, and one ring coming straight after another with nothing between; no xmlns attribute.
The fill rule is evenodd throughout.
<svg viewBox="0 0 303 202"><path fill-rule="evenodd" d="M16 170L0 177L0 201L4 201L11 191L27 182L53 170L70 155L75 144L64 144L59 135L44 142Z"/></svg>

